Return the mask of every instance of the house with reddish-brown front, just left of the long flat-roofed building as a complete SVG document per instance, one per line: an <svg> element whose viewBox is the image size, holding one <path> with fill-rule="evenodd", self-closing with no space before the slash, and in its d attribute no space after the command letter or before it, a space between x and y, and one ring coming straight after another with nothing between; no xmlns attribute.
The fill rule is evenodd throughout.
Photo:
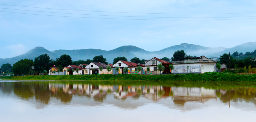
<svg viewBox="0 0 256 122"><path fill-rule="evenodd" d="M165 68L164 71L156 72L156 66L158 64L162 64L164 66L164 68ZM145 66L143 67L143 70L147 71L147 67L149 67L150 71L154 71L154 73L156 73L156 74L170 74L171 73L171 70L169 69L170 64L171 63L168 61L161 60L159 58L154 57L154 58L150 59L149 61L145 61Z"/></svg>

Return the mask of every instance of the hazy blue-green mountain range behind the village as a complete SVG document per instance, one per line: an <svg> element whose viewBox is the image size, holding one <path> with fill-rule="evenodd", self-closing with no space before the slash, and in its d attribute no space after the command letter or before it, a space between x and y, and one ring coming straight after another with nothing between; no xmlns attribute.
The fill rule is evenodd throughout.
<svg viewBox="0 0 256 122"><path fill-rule="evenodd" d="M138 57L140 60L150 60L153 57L163 58L168 57L171 59L173 53L177 50L184 50L187 55L196 55L196 56L206 56L206 57L212 57L212 56L220 56L224 53L231 53L238 51L240 52L252 52L256 49L256 42L249 42L244 43L241 45L238 45L236 47L232 48L225 48L225 47L203 47L200 45L193 45L193 44L187 44L182 43L180 45L175 45L171 47L164 48L159 51L146 51L144 49L141 49L139 47L135 46L122 46L118 47L113 50L101 50L101 49L79 49L79 50L54 50L49 51L45 49L44 47L35 47L34 49L31 49L25 54L12 57L12 58L6 58L6 59L0 59L0 66L5 63L13 64L17 61L20 61L21 59L35 59L35 57L41 55L41 54L48 54L51 59L56 59L60 57L62 54L68 54L72 57L73 61L77 60L86 60L86 59L93 59L93 57L98 55L103 55L104 58L107 59L108 63L112 63L113 59L118 56L124 56L127 58L128 61L130 61L133 57Z"/></svg>

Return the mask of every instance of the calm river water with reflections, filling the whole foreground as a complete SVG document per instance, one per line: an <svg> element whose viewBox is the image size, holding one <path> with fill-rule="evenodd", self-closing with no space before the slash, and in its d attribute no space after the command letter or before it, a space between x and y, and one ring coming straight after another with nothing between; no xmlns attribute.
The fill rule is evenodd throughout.
<svg viewBox="0 0 256 122"><path fill-rule="evenodd" d="M0 80L0 121L255 121L255 92L250 87Z"/></svg>

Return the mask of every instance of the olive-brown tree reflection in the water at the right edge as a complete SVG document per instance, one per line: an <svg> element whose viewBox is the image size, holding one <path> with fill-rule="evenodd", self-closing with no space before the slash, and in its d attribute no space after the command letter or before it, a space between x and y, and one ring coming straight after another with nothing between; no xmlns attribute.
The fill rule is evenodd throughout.
<svg viewBox="0 0 256 122"><path fill-rule="evenodd" d="M245 100L245 102L255 102L255 91L255 88L237 88L227 91L216 90L216 94L223 103L228 103L229 101L237 102L240 99Z"/></svg>

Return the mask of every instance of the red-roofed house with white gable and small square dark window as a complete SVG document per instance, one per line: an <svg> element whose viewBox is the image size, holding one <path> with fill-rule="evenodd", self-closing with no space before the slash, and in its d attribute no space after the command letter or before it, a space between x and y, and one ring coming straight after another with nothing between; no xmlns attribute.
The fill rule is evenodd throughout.
<svg viewBox="0 0 256 122"><path fill-rule="evenodd" d="M113 75L126 74L126 73L124 73L125 67L128 68L128 72L134 72L137 70L138 66L142 66L142 64L119 60L115 64L112 65L112 72L113 72ZM119 67L119 72L116 72L116 67ZM142 70L142 72L143 72L143 70Z"/></svg>

